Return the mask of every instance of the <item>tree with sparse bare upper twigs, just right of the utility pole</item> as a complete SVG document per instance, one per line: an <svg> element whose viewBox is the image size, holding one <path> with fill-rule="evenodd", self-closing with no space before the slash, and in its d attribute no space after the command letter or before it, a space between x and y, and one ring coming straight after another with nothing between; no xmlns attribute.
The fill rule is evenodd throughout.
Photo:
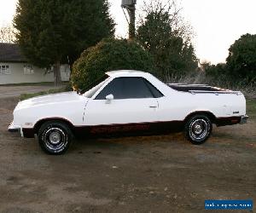
<svg viewBox="0 0 256 213"><path fill-rule="evenodd" d="M137 40L154 56L160 78L173 72L193 71L198 67L191 37L193 33L179 15L176 3L160 2L145 6L145 17L137 28Z"/></svg>

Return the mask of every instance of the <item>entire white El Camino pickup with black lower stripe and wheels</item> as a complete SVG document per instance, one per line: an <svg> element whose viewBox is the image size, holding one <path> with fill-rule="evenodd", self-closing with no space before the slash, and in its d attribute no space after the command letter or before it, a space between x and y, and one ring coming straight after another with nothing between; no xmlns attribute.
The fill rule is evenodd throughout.
<svg viewBox="0 0 256 213"><path fill-rule="evenodd" d="M247 122L241 92L203 84L166 84L148 72L114 71L84 92L20 101L9 131L38 136L49 154L67 151L74 135L132 135L184 131L199 145L217 126Z"/></svg>

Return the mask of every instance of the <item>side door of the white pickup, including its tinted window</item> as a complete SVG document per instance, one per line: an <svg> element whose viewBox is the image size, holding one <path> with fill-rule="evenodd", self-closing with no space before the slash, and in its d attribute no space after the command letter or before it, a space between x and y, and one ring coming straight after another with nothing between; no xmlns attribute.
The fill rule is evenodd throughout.
<svg viewBox="0 0 256 213"><path fill-rule="evenodd" d="M106 96L113 100L107 100ZM98 131L147 130L158 119L158 101L144 78L113 78L84 111L84 125L100 126ZM120 127L120 124L124 125ZM109 129L111 126L112 129Z"/></svg>

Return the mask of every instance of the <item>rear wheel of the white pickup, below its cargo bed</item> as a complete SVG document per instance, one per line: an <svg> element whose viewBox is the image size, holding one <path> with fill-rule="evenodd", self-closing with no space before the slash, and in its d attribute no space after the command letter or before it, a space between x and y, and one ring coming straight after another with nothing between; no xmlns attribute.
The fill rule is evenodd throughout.
<svg viewBox="0 0 256 213"><path fill-rule="evenodd" d="M212 133L212 122L204 114L197 114L189 118L185 124L185 136L195 145L207 141Z"/></svg>

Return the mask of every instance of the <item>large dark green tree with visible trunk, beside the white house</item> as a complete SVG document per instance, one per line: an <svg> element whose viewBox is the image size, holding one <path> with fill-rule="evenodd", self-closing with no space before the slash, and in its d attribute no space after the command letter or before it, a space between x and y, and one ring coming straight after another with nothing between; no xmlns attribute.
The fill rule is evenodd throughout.
<svg viewBox="0 0 256 213"><path fill-rule="evenodd" d="M75 60L88 47L111 37L114 24L107 0L19 0L15 14L17 42L35 66L55 67L60 83L61 61Z"/></svg>

